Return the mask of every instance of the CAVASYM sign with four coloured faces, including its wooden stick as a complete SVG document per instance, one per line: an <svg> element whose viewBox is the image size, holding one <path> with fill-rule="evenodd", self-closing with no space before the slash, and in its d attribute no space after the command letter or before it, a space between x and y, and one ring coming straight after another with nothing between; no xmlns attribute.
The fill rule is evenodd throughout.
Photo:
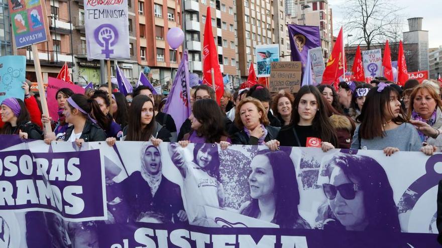
<svg viewBox="0 0 442 248"><path fill-rule="evenodd" d="M32 56L35 66L35 74L39 85L41 96L45 95L43 77L38 56L38 43L47 41L48 25L46 8L40 0L33 1L9 1L9 11L11 13L11 23L14 41L17 48L31 45ZM43 114L49 116L46 98L41 98ZM50 125L45 125L45 132L52 132Z"/></svg>

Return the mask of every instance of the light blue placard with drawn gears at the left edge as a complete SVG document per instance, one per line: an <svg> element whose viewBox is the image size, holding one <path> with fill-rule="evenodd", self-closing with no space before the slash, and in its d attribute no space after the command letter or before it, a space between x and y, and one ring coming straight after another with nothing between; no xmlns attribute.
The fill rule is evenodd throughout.
<svg viewBox="0 0 442 248"><path fill-rule="evenodd" d="M25 73L25 56L0 57L0 102L10 97L23 100L25 91L22 85L25 82Z"/></svg>

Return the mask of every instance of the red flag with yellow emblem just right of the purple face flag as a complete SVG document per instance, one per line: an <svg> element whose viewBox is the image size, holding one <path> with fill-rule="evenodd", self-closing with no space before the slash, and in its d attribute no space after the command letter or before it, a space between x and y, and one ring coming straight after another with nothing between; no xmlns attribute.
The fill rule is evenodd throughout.
<svg viewBox="0 0 442 248"><path fill-rule="evenodd" d="M328 58L327 66L322 75L322 84L333 84L339 79L339 77L344 77L345 53L343 45L341 28L335 46L333 47L332 54L330 54L330 57Z"/></svg>

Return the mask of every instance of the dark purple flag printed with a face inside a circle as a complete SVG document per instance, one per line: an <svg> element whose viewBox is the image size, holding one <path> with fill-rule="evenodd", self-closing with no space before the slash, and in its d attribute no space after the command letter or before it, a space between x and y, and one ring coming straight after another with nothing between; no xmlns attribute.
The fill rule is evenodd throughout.
<svg viewBox="0 0 442 248"><path fill-rule="evenodd" d="M307 63L308 50L321 46L319 27L288 25L292 61L301 61L302 68Z"/></svg>

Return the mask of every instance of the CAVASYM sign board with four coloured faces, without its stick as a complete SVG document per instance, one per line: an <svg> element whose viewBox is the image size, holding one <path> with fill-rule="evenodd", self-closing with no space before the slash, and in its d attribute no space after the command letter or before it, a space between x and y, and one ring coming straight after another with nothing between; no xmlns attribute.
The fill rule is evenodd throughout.
<svg viewBox="0 0 442 248"><path fill-rule="evenodd" d="M46 25L40 0L9 0L12 32L17 48L45 42Z"/></svg>

